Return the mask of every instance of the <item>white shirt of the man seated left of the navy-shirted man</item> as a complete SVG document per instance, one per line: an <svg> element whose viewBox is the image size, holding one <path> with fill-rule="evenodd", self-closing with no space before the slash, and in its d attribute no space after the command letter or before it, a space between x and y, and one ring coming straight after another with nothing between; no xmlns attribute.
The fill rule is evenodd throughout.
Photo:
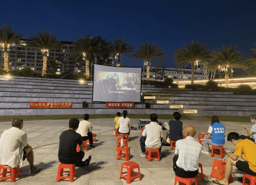
<svg viewBox="0 0 256 185"><path fill-rule="evenodd" d="M142 135L146 136L145 145L147 148L160 148L161 137L162 135L162 127L158 125L156 122L150 122L145 125Z"/></svg>

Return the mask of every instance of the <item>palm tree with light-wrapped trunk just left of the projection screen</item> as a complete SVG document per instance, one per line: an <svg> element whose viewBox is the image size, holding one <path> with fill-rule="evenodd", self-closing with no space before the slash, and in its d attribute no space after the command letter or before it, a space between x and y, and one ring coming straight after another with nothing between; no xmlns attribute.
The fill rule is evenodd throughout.
<svg viewBox="0 0 256 185"><path fill-rule="evenodd" d="M90 61L93 60L94 54L100 55L101 53L101 45L100 45L100 38L95 37L92 38L91 36L85 36L80 38L74 42L74 49L73 53L76 56L75 60L80 58L82 55L82 60L85 61L85 76L89 78L90 76Z"/></svg>

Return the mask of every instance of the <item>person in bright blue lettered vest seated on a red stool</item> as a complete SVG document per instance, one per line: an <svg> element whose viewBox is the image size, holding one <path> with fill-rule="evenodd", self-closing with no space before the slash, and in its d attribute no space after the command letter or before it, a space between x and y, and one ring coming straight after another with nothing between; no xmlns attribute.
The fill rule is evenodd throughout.
<svg viewBox="0 0 256 185"><path fill-rule="evenodd" d="M202 153L209 154L209 145L222 147L225 144L225 126L220 124L218 116L212 116L212 124L208 129L208 135L204 136Z"/></svg>

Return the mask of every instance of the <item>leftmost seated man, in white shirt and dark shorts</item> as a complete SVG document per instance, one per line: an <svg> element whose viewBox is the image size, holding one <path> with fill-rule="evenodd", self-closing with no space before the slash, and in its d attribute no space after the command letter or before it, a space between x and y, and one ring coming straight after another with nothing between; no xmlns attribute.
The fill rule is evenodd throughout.
<svg viewBox="0 0 256 185"><path fill-rule="evenodd" d="M27 158L30 170L35 173L38 168L34 166L34 153L32 147L28 145L26 132L22 131L23 120L14 118L12 128L5 130L0 138L0 164L8 165L12 168L22 166Z"/></svg>

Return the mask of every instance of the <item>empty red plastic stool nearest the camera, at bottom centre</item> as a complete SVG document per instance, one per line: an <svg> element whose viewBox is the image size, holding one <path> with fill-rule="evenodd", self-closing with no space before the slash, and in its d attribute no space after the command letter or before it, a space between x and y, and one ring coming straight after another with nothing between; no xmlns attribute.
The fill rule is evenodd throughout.
<svg viewBox="0 0 256 185"><path fill-rule="evenodd" d="M123 172L123 168L126 168L125 172ZM134 172L133 171L134 169L138 169L138 173ZM125 176L123 174L127 174L127 175ZM133 161L122 163L119 179L121 179L121 178L126 179L127 184L130 184L131 180L137 179L137 178L139 178L140 181L141 181L140 165L138 163L133 162Z"/></svg>

